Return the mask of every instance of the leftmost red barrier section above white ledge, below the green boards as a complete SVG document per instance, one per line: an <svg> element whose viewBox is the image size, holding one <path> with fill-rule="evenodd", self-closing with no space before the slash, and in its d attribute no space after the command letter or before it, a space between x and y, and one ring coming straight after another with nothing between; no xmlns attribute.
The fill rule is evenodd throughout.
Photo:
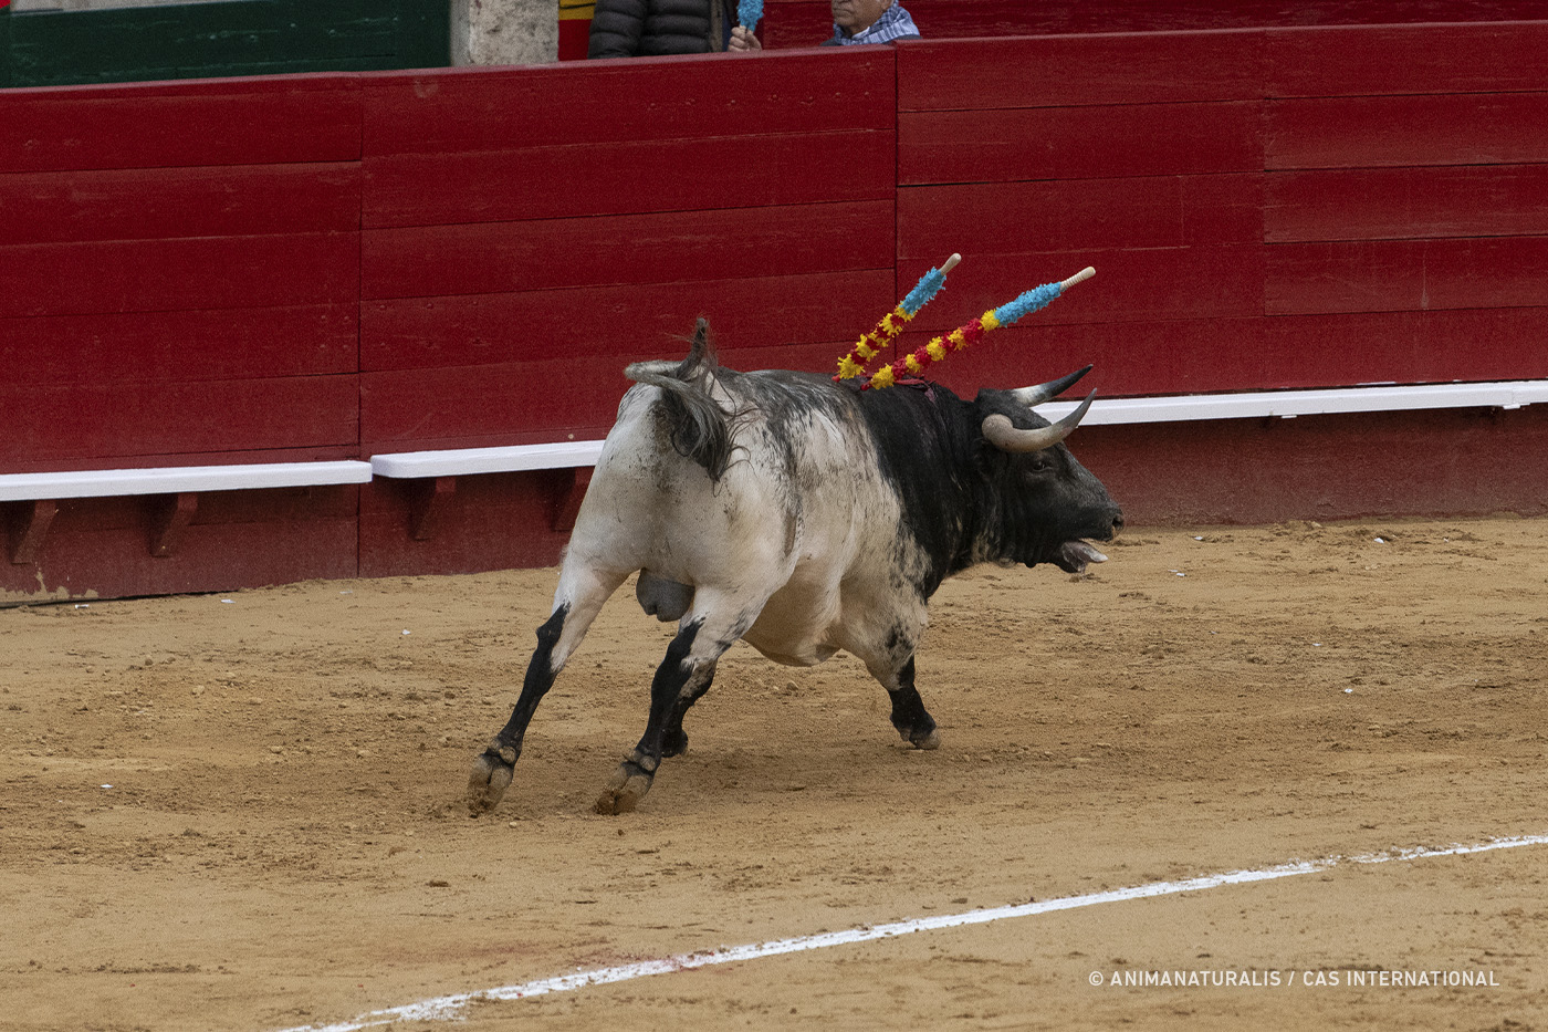
<svg viewBox="0 0 1548 1032"><path fill-rule="evenodd" d="M0 107L0 470L358 446L356 77Z"/></svg>

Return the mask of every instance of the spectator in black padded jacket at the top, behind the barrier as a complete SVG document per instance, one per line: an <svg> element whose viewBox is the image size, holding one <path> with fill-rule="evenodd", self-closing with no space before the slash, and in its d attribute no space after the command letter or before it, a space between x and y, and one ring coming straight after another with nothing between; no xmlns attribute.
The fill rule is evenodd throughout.
<svg viewBox="0 0 1548 1032"><path fill-rule="evenodd" d="M587 57L748 53L759 37L737 25L735 0L596 0Z"/></svg>

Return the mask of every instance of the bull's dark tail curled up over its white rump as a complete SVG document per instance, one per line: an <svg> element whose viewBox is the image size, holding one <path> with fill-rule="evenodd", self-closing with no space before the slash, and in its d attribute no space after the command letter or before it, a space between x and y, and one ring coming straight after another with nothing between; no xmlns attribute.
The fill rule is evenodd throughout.
<svg viewBox="0 0 1548 1032"><path fill-rule="evenodd" d="M663 421L672 448L684 459L704 466L711 480L720 480L731 465L735 445L732 435L743 412L728 409L714 397L724 378L709 339L709 322L694 325L692 346L681 363L649 361L624 369L630 380L659 387L656 415ZM724 394L724 390L721 390Z"/></svg>

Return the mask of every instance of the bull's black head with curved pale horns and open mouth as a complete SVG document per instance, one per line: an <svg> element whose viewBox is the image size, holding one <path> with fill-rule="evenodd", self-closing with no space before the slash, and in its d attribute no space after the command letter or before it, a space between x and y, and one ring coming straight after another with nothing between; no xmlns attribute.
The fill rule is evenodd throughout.
<svg viewBox="0 0 1548 1032"><path fill-rule="evenodd" d="M1096 392L1057 423L1033 412L1033 406L1057 397L1090 369L1036 387L978 392L974 408L986 445L981 468L997 514L985 528L989 555L983 558L1053 562L1070 573L1107 559L1085 538L1111 541L1124 514L1102 482L1063 445Z"/></svg>

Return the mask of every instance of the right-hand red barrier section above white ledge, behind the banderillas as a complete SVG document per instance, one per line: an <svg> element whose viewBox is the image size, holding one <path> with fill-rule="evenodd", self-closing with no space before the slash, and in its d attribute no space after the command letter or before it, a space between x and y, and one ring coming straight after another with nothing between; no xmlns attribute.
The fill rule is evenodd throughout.
<svg viewBox="0 0 1548 1032"><path fill-rule="evenodd" d="M971 254L966 311L926 310L902 344L1090 262L1093 290L941 377L1037 378L1051 355L1118 394L1542 377L1520 342L1548 316L1545 29L899 46L899 280Z"/></svg>

